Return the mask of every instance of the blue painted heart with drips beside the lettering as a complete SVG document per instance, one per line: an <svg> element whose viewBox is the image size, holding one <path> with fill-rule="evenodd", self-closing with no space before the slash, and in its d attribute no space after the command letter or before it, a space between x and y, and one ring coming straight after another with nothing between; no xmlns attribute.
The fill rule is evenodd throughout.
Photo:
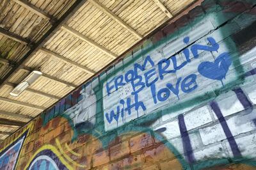
<svg viewBox="0 0 256 170"><path fill-rule="evenodd" d="M205 61L200 63L198 72L208 79L221 81L222 86L224 86L223 79L225 79L231 63L228 52L224 52L214 62Z"/></svg>

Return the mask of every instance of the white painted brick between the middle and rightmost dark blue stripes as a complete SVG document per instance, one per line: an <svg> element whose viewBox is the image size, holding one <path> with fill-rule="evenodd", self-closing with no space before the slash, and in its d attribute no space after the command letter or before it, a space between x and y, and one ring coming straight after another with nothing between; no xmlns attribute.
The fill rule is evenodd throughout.
<svg viewBox="0 0 256 170"><path fill-rule="evenodd" d="M221 97L220 100L216 100L224 117L244 110L244 107L238 100L236 93L231 93L232 95L229 97L225 97L226 94L224 94L222 96L223 98ZM216 114L214 114L214 118L218 120Z"/></svg>

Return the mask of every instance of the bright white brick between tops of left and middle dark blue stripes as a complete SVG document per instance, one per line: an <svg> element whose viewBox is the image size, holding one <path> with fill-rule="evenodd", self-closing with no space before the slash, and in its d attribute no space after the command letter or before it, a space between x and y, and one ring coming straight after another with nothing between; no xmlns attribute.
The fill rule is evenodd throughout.
<svg viewBox="0 0 256 170"><path fill-rule="evenodd" d="M196 109L195 111L186 114L184 116L184 120L187 130L191 130L193 128L197 128L207 123L210 123L212 121L212 118L207 105L205 105L200 109Z"/></svg>

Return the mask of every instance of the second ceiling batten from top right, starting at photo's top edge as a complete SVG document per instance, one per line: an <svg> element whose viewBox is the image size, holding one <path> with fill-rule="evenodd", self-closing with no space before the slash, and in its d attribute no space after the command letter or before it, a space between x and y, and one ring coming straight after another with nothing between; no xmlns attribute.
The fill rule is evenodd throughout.
<svg viewBox="0 0 256 170"><path fill-rule="evenodd" d="M108 15L111 19L115 20L120 26L124 27L128 31L132 33L132 35L136 36L140 40L143 38L135 29L133 29L131 26L129 26L127 23L124 22L124 20L120 19L115 13L111 12L106 6L103 6L102 4L99 3L97 0L89 0L90 3L92 3L94 6L99 8L102 12L104 12L106 15Z"/></svg>

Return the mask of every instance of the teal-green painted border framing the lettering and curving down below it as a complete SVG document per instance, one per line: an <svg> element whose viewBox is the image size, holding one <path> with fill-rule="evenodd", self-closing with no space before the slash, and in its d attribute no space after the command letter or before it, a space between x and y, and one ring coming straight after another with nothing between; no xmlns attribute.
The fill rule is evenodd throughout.
<svg viewBox="0 0 256 170"><path fill-rule="evenodd" d="M207 1L207 0L205 0L205 1ZM218 9L218 8L220 8L220 6L218 6L218 5L213 6L210 9L213 11L210 13L207 13L207 17L209 17L210 15L217 14L217 16L214 17L216 19L217 23L218 22L220 23L221 20L225 20L225 19L228 20L226 18L228 14L218 11L218 10L223 10L222 7L221 7L221 9ZM214 11L214 10L216 10L216 11ZM235 15L236 17L239 15L242 15L242 14L243 13L236 15L236 13L232 13L232 15ZM191 26L195 26L198 22L202 21L202 19L203 18L194 19L193 22L191 23ZM142 125L145 122L157 120L166 114L172 114L172 112L179 111L181 108L180 105L183 105L182 108L184 108L184 107L191 107L195 104L197 104L197 105L207 104L208 102L210 102L211 100L214 100L216 97L218 97L222 93L225 93L226 91L230 91L230 89L243 84L245 81L244 76L243 76L244 68L243 68L243 65L241 65L239 58L236 58L236 56L239 56L239 52L238 52L236 44L234 42L227 43L225 45L227 45L228 48L232 47L232 49L236 50L236 52L234 52L233 55L231 55L231 56L232 56L232 61L233 61L232 65L234 66L234 70L236 71L237 77L234 81L231 81L231 82L228 82L228 84L225 84L224 87L214 89L214 91L207 91L203 95L199 95L195 98L190 98L189 100L185 100L184 102L182 102L180 104L172 105L170 107L165 107L163 109L163 111L150 112L149 114L143 115L134 121L127 122L124 125L122 125L121 127L117 127L115 129L109 130L107 132L105 131L105 127L104 127L104 111L102 111L102 108L104 108L103 102L102 102L103 101L102 91L104 88L103 87L104 82L108 81L109 77L115 76L116 72L119 72L120 70L122 70L123 68L125 68L127 66L133 65L136 61L138 61L138 59L143 58L143 56L145 56L145 54L147 54L148 52L150 52L154 49L157 49L157 47L170 41L173 37L178 38L180 30L183 31L183 33L186 33L186 30L189 30L189 29L188 29L188 26L180 27L178 31L175 31L175 33L173 33L172 35L168 35L168 36L164 37L162 40L155 43L154 45L152 45L150 43L150 40L145 41L143 43L143 45L145 45L146 47L142 52L133 56L131 61L128 61L127 63L122 65L122 67L116 69L115 72L111 72L108 75L106 75L106 77L104 77L104 79L100 79L99 86L96 86L93 88L93 91L95 91L95 95L97 98L96 114L95 115L97 116L96 124L99 124L98 126L95 125L95 127L92 129L83 130L83 132L81 132L81 131L79 132L79 130L76 129L73 121L70 121L70 117L67 114L65 114L65 112L59 115L60 117L66 118L69 121L70 127L72 128L72 130L74 130L74 135L72 136L72 142L76 141L77 137L81 134L92 134L93 137L96 137L97 139L99 139L101 141L102 146L105 150L106 148L108 148L108 144L116 138L116 134L118 134L118 135L126 134L131 131L132 132L147 132L148 134L152 135L155 139L162 142L170 151L172 151L172 153L175 156L177 156L180 164L182 165L182 167L184 169L191 169L191 165L189 165L189 163L186 161L186 159L182 156L182 154L179 153L179 151L177 151L177 149L172 145L172 143L170 143L167 139L165 139L163 136L161 136L161 134L154 132L154 130L152 130L152 128L141 127L140 125ZM225 37L225 31L230 31L230 27L227 27L226 30L220 31L220 33L223 37ZM201 38L203 38L203 37L204 36L202 36ZM198 40L200 40L200 39L198 39ZM136 51L136 49L137 50L140 49L140 47L141 47L141 45L136 47L134 51ZM129 57L129 55L127 55L127 57ZM198 104L198 101L200 101L200 104ZM184 106L184 105L186 105L186 106ZM49 120L51 120L51 119L49 119ZM46 125L45 123L46 122L44 121L44 125ZM102 132L102 133L99 134L99 132ZM102 135L102 134L104 134L104 135ZM111 134L115 134L115 135L111 135ZM227 158L211 159L208 162L213 162L212 164L214 166L218 166L218 165L222 164L221 162L223 162L224 160L226 161ZM231 163L231 162L234 163L234 162L236 162L236 160L237 160L237 158L231 158L229 163ZM204 164L203 164L203 162L204 162ZM195 166L194 167L195 169L206 168L207 164L205 164L205 162L207 162L207 161L204 160L203 162L196 162L195 164L197 164L197 165L195 166L193 164L192 166L193 167ZM246 160L241 161L241 162L242 163L244 162L244 164L256 166L255 162L250 162L250 161L246 161Z"/></svg>

